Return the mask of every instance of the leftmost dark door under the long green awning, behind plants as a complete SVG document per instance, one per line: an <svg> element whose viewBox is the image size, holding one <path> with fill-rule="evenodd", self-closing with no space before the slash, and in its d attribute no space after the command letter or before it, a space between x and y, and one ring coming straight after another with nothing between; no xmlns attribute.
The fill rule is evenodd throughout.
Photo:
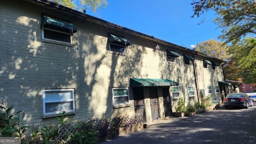
<svg viewBox="0 0 256 144"><path fill-rule="evenodd" d="M143 122L146 122L143 88L133 88L135 114L142 113Z"/></svg>

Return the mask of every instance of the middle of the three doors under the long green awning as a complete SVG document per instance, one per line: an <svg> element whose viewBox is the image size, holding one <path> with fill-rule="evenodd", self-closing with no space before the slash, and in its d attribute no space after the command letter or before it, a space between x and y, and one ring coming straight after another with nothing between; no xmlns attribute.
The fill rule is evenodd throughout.
<svg viewBox="0 0 256 144"><path fill-rule="evenodd" d="M150 108L152 120L160 118L157 90L155 87L149 89Z"/></svg>

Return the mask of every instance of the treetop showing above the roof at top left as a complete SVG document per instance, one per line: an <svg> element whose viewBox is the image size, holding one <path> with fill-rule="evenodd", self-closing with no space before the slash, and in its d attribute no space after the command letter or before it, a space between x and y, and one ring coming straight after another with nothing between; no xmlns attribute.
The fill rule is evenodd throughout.
<svg viewBox="0 0 256 144"><path fill-rule="evenodd" d="M99 8L105 8L108 4L106 0L49 0L51 2L55 2L56 4L60 4L62 6L66 6L68 8L72 8L74 10L92 10L96 12Z"/></svg>

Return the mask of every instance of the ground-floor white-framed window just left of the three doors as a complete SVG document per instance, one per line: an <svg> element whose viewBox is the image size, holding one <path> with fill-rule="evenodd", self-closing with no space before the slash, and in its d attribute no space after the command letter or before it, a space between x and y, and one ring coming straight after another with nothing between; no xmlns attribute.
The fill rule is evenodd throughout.
<svg viewBox="0 0 256 144"><path fill-rule="evenodd" d="M130 104L128 87L112 88L112 95L114 107Z"/></svg>

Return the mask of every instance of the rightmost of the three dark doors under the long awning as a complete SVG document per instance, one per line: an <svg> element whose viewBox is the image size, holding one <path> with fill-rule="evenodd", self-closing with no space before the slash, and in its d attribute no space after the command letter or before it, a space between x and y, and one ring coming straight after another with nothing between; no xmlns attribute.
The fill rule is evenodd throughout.
<svg viewBox="0 0 256 144"><path fill-rule="evenodd" d="M164 99L164 113L166 116L172 115L171 100L169 88L163 88L163 99Z"/></svg>

